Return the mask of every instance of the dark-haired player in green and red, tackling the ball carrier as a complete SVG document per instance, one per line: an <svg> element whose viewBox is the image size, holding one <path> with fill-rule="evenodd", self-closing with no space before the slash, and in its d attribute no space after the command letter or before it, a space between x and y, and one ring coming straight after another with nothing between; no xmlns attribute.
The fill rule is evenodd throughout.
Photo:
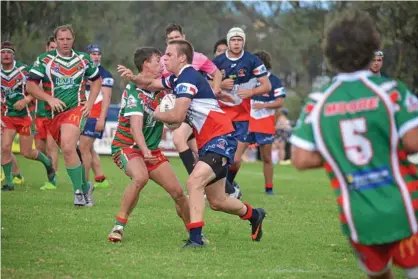
<svg viewBox="0 0 418 279"><path fill-rule="evenodd" d="M161 53L144 47L135 52L134 61L142 76L161 76ZM115 226L109 241L122 241L128 217L138 203L139 193L149 179L161 185L176 203L177 214L187 225L190 222L188 198L167 158L158 149L164 124L154 119L154 110L164 96L163 91L138 88L130 82L122 95L119 123L112 142L112 157L116 165L131 178L123 193Z"/></svg>

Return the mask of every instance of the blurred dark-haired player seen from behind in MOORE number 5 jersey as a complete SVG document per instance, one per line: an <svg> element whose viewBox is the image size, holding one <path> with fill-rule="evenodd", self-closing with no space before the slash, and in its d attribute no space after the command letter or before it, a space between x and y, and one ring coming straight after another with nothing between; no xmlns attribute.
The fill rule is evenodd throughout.
<svg viewBox="0 0 418 279"><path fill-rule="evenodd" d="M379 33L358 10L337 14L323 51L338 72L309 95L290 142L299 170L324 167L342 231L369 278L390 264L418 278L418 98L400 81L369 71Z"/></svg>

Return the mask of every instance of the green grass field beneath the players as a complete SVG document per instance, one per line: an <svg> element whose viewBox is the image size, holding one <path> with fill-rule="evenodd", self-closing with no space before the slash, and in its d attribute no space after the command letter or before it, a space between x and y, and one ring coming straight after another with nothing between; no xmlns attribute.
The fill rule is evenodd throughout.
<svg viewBox="0 0 418 279"><path fill-rule="evenodd" d="M207 208L205 249L181 249L187 234L173 202L150 182L123 243L107 242L129 179L102 158L111 187L95 191L94 208L74 208L61 161L59 188L42 192L44 170L18 157L26 182L2 193L2 278L365 278L340 232L335 198L324 172L277 166L275 196L263 193L260 164L237 181L243 200L264 207L264 237L254 243L247 222ZM171 160L180 181L186 172Z"/></svg>

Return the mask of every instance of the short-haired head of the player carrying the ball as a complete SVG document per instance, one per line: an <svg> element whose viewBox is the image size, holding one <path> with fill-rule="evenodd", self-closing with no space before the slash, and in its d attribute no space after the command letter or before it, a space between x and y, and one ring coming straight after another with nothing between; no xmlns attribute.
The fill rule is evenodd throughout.
<svg viewBox="0 0 418 279"><path fill-rule="evenodd" d="M164 64L169 72L178 74L186 64L193 63L193 46L186 40L174 40L168 43Z"/></svg>

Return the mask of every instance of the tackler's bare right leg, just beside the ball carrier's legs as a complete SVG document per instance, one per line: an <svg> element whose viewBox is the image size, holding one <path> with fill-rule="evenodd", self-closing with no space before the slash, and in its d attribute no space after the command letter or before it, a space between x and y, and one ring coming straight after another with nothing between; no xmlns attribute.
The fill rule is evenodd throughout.
<svg viewBox="0 0 418 279"><path fill-rule="evenodd" d="M190 223L189 201L186 195L184 195L183 187L178 181L170 163L168 161L162 162L149 173L149 176L173 198L177 214L183 220L184 225Z"/></svg>

